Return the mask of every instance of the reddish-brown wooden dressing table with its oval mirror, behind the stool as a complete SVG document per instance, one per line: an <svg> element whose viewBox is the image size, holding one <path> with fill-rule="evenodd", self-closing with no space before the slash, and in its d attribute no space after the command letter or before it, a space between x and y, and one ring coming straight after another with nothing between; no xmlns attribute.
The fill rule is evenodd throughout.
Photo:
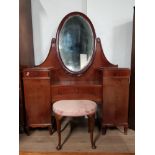
<svg viewBox="0 0 155 155"><path fill-rule="evenodd" d="M22 76L27 132L36 127L52 132L54 102L86 99L99 105L103 134L109 126L123 126L127 133L130 70L106 59L101 40L83 13L62 19L45 61L24 69Z"/></svg>

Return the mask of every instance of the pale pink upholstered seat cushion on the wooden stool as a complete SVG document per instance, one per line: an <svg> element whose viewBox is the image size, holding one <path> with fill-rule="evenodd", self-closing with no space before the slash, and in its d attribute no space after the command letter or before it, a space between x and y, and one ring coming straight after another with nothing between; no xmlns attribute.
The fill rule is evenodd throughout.
<svg viewBox="0 0 155 155"><path fill-rule="evenodd" d="M95 113L96 107L90 100L60 100L53 104L53 111L61 116L85 116Z"/></svg>

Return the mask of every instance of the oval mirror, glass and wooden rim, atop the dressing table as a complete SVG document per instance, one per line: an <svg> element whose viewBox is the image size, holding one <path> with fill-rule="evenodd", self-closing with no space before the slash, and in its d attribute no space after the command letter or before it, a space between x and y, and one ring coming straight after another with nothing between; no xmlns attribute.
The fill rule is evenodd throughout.
<svg viewBox="0 0 155 155"><path fill-rule="evenodd" d="M86 70L92 62L95 46L91 21L82 13L70 13L58 30L57 47L64 67L72 73Z"/></svg>

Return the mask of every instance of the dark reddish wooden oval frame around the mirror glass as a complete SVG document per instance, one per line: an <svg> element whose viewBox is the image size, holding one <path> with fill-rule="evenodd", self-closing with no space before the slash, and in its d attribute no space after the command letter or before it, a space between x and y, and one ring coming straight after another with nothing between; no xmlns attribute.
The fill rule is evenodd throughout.
<svg viewBox="0 0 155 155"><path fill-rule="evenodd" d="M91 56L91 59L90 61L88 62L88 64L83 68L81 69L80 71L72 71L72 70L69 70L66 65L64 64L62 58L61 58L61 55L60 55L60 51L59 51L59 35L60 35L60 32L61 32L61 29L63 28L63 25L65 24L65 22L68 20L68 18L72 17L72 16L81 16L82 18L84 18L84 20L86 20L86 22L90 25L90 28L92 30L92 34L93 34L93 51L92 51L92 56ZM93 60L94 60L94 57L95 57L95 52L96 52L96 33L95 33L95 29L94 29L94 26L92 24L92 22L90 21L90 19L83 13L81 12L71 12L69 14L67 14L63 19L62 21L60 22L59 24L59 27L58 27L58 30L57 30L57 34L56 34L56 49L57 49L57 55L58 55L58 59L61 63L61 65L63 66L63 68L71 73L71 74L81 74L83 72L85 72L86 70L88 70L88 68L90 67L90 65L92 64Z"/></svg>

